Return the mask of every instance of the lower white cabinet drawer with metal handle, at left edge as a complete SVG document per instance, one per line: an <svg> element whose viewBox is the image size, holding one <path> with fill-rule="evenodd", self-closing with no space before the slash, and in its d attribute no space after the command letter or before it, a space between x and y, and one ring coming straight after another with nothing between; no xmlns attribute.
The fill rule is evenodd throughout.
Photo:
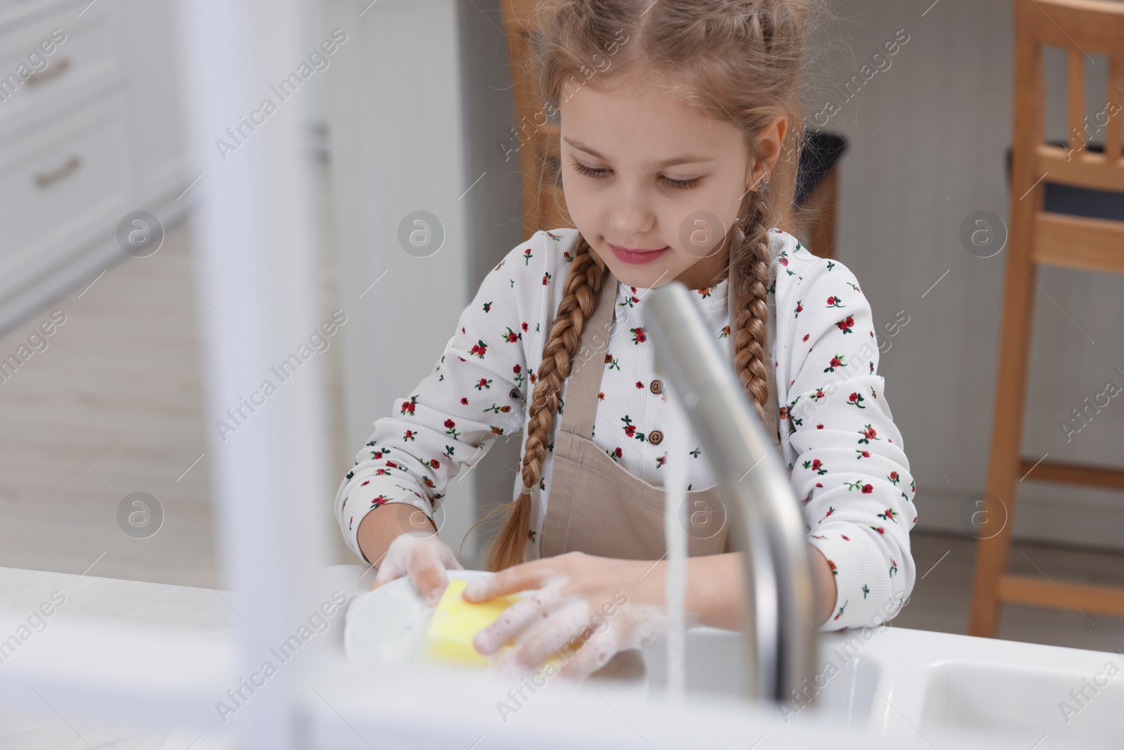
<svg viewBox="0 0 1124 750"><path fill-rule="evenodd" d="M129 196L126 128L125 94L118 93L28 126L0 151L0 297L69 252L112 235Z"/></svg>

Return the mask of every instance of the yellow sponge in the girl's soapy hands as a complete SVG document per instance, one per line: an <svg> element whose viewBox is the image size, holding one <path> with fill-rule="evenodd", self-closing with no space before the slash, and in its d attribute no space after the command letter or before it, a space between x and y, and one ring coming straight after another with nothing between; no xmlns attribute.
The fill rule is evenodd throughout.
<svg viewBox="0 0 1124 750"><path fill-rule="evenodd" d="M426 631L427 660L486 667L515 649L514 642L508 641L499 651L486 657L472 645L472 639L495 622L508 605L515 604L523 597L518 594L508 594L488 602L466 602L461 593L468 582L463 578L450 578L448 586L437 603L437 611L429 622L429 630ZM562 661L561 653L555 652L547 663L559 668Z"/></svg>

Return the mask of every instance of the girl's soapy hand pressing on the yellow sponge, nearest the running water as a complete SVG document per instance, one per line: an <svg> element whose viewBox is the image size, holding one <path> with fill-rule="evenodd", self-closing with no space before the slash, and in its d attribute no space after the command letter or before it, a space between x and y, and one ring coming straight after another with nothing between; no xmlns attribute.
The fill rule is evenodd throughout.
<svg viewBox="0 0 1124 750"><path fill-rule="evenodd" d="M477 633L473 645L488 656L514 638L516 648L499 667L531 674L572 643L563 651L565 662L558 674L581 681L617 651L647 648L664 636L663 575L662 562L568 552L470 581L463 594L469 602L538 589Z"/></svg>

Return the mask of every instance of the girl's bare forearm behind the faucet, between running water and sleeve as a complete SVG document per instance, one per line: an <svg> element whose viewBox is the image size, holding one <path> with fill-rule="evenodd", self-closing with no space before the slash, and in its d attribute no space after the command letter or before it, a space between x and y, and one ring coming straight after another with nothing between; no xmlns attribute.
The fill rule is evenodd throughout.
<svg viewBox="0 0 1124 750"><path fill-rule="evenodd" d="M667 580L667 560L660 560L661 580ZM687 602L699 624L724 630L743 630L745 612L745 562L741 552L707 554L687 559ZM816 581L816 612L813 622L827 622L835 606L835 576L827 559L812 548L812 575Z"/></svg>

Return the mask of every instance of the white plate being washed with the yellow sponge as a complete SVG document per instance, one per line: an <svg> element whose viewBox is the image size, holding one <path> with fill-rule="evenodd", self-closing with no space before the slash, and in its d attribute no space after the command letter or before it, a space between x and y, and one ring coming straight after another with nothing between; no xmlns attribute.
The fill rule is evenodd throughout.
<svg viewBox="0 0 1124 750"><path fill-rule="evenodd" d="M487 570L448 570L450 579L491 578ZM406 663L420 658L435 606L427 605L408 578L364 591L347 605L344 652L353 661Z"/></svg>

